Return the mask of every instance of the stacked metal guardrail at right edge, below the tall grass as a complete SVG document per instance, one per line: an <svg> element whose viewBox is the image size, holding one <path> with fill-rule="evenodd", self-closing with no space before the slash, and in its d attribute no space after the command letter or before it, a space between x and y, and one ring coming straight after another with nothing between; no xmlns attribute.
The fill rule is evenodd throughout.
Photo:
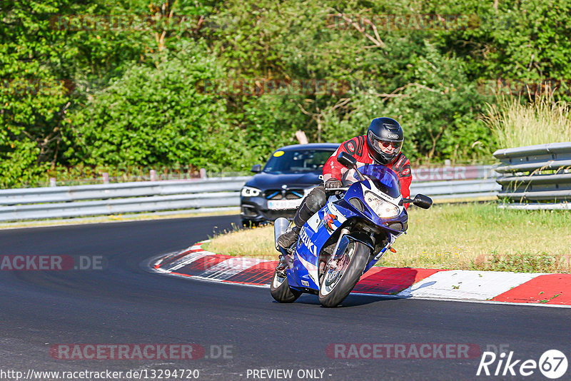
<svg viewBox="0 0 571 381"><path fill-rule="evenodd" d="M569 209L571 201L571 142L506 148L495 151L502 176L497 194L514 209Z"/></svg>

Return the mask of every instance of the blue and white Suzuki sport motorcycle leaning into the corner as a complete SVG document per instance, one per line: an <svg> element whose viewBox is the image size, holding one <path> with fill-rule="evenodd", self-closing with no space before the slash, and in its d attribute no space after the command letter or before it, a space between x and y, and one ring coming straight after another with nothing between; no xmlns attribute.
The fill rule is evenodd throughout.
<svg viewBox="0 0 571 381"><path fill-rule="evenodd" d="M274 273L270 289L280 303L292 303L302 293L319 295L321 305L335 307L353 290L361 275L390 250L408 228L405 203L428 209L433 201L418 194L414 199L400 194L398 177L385 166L357 168L355 158L340 153L337 160L349 171L343 188L303 225L297 243L281 251L288 263L283 273ZM274 223L276 242L289 224Z"/></svg>

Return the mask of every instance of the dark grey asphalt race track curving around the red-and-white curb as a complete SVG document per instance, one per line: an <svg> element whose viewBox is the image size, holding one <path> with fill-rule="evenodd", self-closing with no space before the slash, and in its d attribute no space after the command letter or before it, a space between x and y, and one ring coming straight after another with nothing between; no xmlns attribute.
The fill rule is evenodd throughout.
<svg viewBox="0 0 571 381"><path fill-rule="evenodd" d="M343 307L326 309L311 295L281 305L268 289L146 270L148 258L186 248L231 223L238 217L1 230L0 255L103 255L106 268L0 271L0 370L184 367L200 370L199 380L254 380L248 369L291 369L294 375L318 369L323 380L547 380L537 370L530 377L476 377L480 357L333 359L325 352L333 343L504 345L514 359L537 361L550 349L571 359L568 308L350 296ZM230 345L231 353L184 362L50 357L51 345L61 343L196 343L207 355L211 345Z"/></svg>

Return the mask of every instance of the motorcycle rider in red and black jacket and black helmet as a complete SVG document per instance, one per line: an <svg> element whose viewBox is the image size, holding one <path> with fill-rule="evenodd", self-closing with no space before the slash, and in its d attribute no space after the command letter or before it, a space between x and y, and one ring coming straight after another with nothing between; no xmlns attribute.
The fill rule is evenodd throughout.
<svg viewBox="0 0 571 381"><path fill-rule="evenodd" d="M287 249L297 242L303 224L327 203L325 190L343 186L341 178L348 169L337 161L337 156L341 152L353 156L357 160L358 167L365 164L380 164L395 171L400 183L400 193L408 198L413 176L410 171L410 161L400 152L403 141L403 128L398 121L393 118L375 118L370 123L367 135L355 136L342 143L323 166L325 184L313 188L305 197L295 213L293 224L290 224L288 230L278 238L278 245ZM408 204L405 204L405 208L408 208ZM281 259L276 268L278 271L284 271L287 267L285 260Z"/></svg>

